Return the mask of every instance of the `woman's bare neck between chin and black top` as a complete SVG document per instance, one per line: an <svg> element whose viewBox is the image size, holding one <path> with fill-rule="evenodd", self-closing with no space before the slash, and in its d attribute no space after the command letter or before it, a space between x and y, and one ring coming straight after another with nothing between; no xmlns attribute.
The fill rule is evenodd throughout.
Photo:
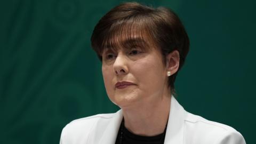
<svg viewBox="0 0 256 144"><path fill-rule="evenodd" d="M163 95L138 107L122 108L124 125L126 129L137 135L150 137L161 134L169 118L170 106L171 95Z"/></svg>

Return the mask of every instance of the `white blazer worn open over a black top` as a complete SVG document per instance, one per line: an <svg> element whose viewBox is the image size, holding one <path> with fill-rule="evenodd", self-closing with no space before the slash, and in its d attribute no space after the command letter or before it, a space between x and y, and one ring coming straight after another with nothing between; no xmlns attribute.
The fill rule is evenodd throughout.
<svg viewBox="0 0 256 144"><path fill-rule="evenodd" d="M122 109L76 119L61 133L61 144L115 144L123 118ZM243 136L228 125L188 113L172 97L165 144L245 144Z"/></svg>

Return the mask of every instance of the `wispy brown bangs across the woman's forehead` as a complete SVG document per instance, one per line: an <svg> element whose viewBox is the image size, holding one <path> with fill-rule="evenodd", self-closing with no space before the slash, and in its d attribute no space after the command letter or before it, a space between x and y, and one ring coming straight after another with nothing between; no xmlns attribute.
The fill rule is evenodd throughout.
<svg viewBox="0 0 256 144"><path fill-rule="evenodd" d="M97 53L101 57L102 52L106 49L117 51L118 49L140 47L145 50L155 47L146 23L148 22L145 18L130 18L113 23L105 33L101 34L103 38L101 42L97 42L101 44L97 47Z"/></svg>

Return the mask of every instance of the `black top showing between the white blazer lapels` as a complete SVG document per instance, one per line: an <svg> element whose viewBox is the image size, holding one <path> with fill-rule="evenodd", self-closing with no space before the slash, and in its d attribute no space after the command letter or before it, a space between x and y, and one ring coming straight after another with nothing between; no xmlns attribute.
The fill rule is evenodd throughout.
<svg viewBox="0 0 256 144"><path fill-rule="evenodd" d="M122 133L123 132L123 133ZM116 144L162 144L164 143L166 128L163 133L158 134L153 137L145 137L141 135L136 135L131 133L129 130L126 129L124 126L124 122L121 123L119 128Z"/></svg>

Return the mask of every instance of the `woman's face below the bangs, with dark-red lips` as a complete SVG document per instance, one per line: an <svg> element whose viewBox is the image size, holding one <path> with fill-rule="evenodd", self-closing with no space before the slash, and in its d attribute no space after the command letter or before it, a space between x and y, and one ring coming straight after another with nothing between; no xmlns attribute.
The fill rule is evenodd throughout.
<svg viewBox="0 0 256 144"><path fill-rule="evenodd" d="M109 99L121 108L154 102L167 90L162 54L153 47L104 50L102 74Z"/></svg>

